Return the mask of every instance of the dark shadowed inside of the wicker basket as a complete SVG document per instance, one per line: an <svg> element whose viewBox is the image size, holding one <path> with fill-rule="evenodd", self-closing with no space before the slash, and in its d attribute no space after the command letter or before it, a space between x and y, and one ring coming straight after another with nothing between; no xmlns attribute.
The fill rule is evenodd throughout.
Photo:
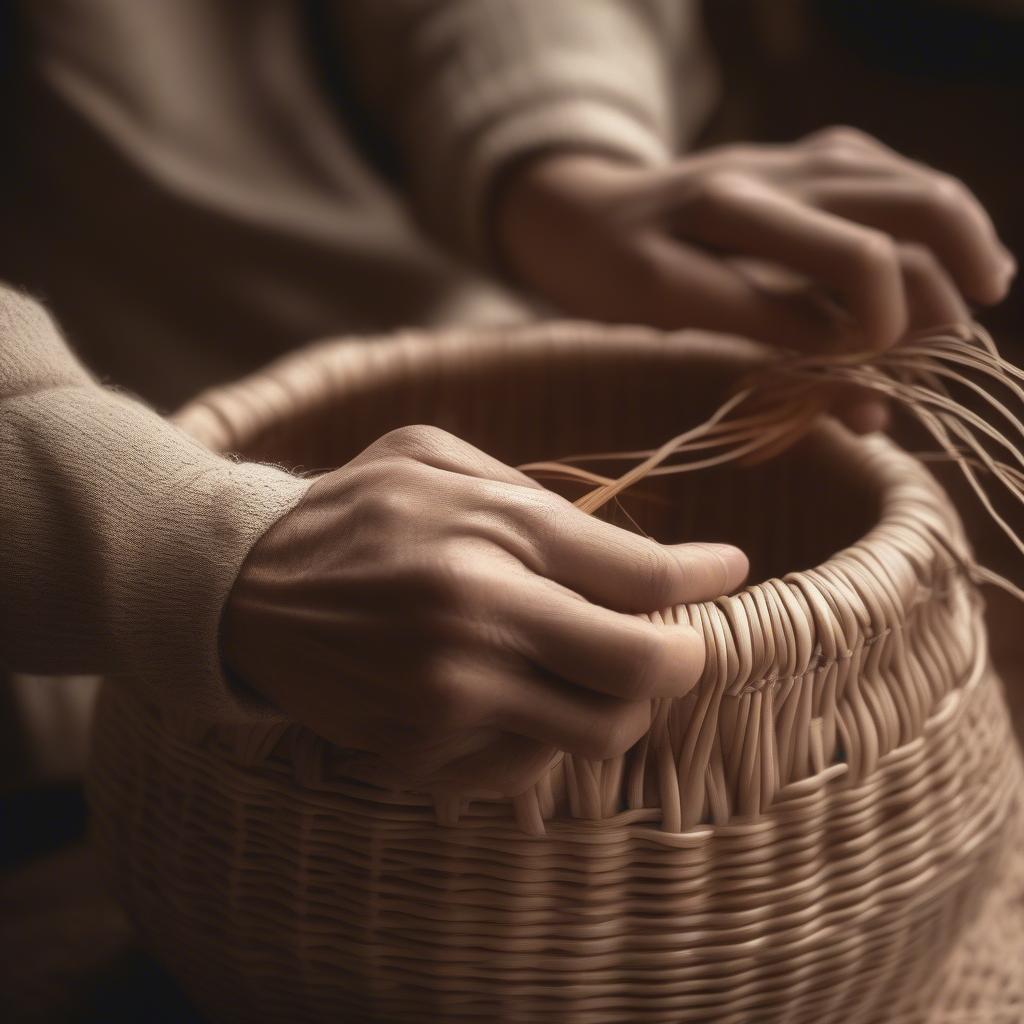
<svg viewBox="0 0 1024 1024"><path fill-rule="evenodd" d="M395 371L387 343L359 374L339 367L337 350L304 357L304 399L282 403L238 454L305 471L344 464L381 434L423 423L442 427L498 459L519 465L565 456L649 449L696 425L728 396L742 367L713 350L598 346L586 358L485 347L447 358L429 342ZM297 385L290 380L293 390ZM309 398L313 395L313 398ZM588 464L617 475L629 462ZM736 544L751 558L750 580L820 564L878 521L880 485L861 472L856 445L836 433L812 436L762 465L648 478L600 514L664 543ZM574 499L577 483L544 481Z"/></svg>

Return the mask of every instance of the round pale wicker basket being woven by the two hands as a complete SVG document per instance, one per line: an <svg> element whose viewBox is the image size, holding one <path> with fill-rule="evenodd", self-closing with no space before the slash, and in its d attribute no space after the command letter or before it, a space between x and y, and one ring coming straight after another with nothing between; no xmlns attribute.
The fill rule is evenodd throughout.
<svg viewBox="0 0 1024 1024"><path fill-rule="evenodd" d="M179 422L306 470L416 422L519 464L659 443L748 357L582 325L329 343ZM298 726L170 722L106 685L99 845L212 1019L1024 1021L1024 775L931 476L831 424L633 497L767 582L652 613L703 632L696 689L514 802L387 794Z"/></svg>

